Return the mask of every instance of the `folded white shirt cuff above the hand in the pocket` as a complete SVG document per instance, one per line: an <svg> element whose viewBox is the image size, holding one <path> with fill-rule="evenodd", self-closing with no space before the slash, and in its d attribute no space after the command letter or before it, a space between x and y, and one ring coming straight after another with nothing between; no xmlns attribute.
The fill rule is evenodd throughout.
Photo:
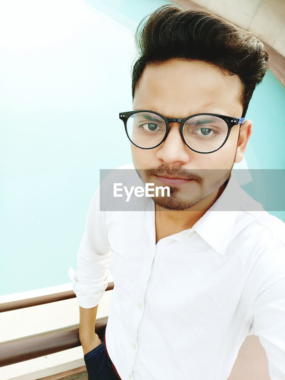
<svg viewBox="0 0 285 380"><path fill-rule="evenodd" d="M68 277L72 281L72 290L76 294L76 298L79 306L84 309L91 309L99 304L107 286L108 286L108 276L104 282L98 284L84 284L79 283L77 279L77 272L73 268L68 269Z"/></svg>

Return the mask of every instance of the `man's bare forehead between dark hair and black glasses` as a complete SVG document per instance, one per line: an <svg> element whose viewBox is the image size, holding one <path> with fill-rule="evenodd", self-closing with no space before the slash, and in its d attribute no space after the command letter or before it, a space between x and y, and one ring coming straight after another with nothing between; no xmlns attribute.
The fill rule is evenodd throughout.
<svg viewBox="0 0 285 380"><path fill-rule="evenodd" d="M199 112L228 114L231 109L241 113L241 92L237 75L222 73L205 62L172 60L144 70L133 109L151 109L163 114L167 107L166 115L163 114L166 117L177 117L178 109L184 117Z"/></svg>

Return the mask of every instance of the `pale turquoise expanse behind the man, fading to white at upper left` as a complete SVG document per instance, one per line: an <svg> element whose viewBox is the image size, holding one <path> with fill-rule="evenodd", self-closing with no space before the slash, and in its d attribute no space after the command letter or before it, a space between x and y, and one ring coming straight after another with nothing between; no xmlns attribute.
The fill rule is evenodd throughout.
<svg viewBox="0 0 285 380"><path fill-rule="evenodd" d="M0 294L70 282L99 169L131 163L118 115L132 107L133 32L165 4L39 3L17 17L8 2L2 25ZM247 113L249 168L284 169L284 100L269 71Z"/></svg>

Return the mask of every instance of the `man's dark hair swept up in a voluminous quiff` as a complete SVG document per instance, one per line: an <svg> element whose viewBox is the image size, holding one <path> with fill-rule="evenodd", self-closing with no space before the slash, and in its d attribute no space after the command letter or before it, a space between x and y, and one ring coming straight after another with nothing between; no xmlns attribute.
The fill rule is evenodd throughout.
<svg viewBox="0 0 285 380"><path fill-rule="evenodd" d="M200 60L239 76L241 117L245 117L252 93L268 69L268 53L253 33L206 9L160 6L139 22L135 46L139 57L132 69L133 100L146 65L169 59Z"/></svg>

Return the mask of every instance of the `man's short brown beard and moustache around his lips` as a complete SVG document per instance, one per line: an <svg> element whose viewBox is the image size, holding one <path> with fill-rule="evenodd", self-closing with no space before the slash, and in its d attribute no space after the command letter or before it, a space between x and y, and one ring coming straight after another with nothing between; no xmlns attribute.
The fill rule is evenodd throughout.
<svg viewBox="0 0 285 380"><path fill-rule="evenodd" d="M167 165L161 164L157 168L150 169L136 169L138 176L141 178L142 182L147 183L148 178L152 175L175 175L178 177L183 177L185 179L195 179L195 184L198 182L198 191L194 192L193 188L196 189L197 185L193 187L192 181L185 185L183 189L179 187L169 186L170 196L166 196L166 189L164 190L164 196L158 195L153 196L152 199L157 206L166 210L173 211L185 211L191 209L193 206L196 206L201 202L204 198L210 195L215 190L222 188L223 190L228 184L228 181L231 176L231 169L202 169L205 173L210 171L210 176L204 176L204 178L209 179L209 185L207 188L204 186L203 177L199 176L199 174L191 171L190 169L182 169L181 166L173 166L172 169L169 169ZM214 174L214 176L213 176ZM145 178L145 180L143 179ZM212 178L212 180L210 180ZM187 189L188 186L188 189ZM197 211L197 207L195 208Z"/></svg>

